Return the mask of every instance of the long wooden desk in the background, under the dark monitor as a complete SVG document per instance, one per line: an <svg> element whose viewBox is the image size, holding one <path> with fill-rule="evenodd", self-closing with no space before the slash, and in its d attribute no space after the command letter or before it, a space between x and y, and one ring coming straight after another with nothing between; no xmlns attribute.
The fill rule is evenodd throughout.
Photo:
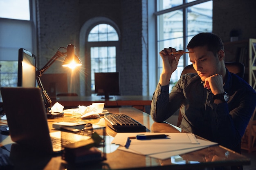
<svg viewBox="0 0 256 170"><path fill-rule="evenodd" d="M94 102L103 102L105 107L132 106L145 111L144 106L151 105L152 96L110 96L110 99L101 99L101 96L59 96L52 99L52 103L60 103L66 108L76 108L77 106L89 106Z"/></svg>

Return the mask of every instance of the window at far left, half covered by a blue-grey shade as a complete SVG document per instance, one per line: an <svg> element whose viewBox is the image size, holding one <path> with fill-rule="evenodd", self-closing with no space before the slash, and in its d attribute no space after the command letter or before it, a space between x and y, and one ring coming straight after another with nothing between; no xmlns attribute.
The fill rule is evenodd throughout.
<svg viewBox="0 0 256 170"><path fill-rule="evenodd" d="M17 86L18 49L35 53L31 4L32 0L0 0L0 86Z"/></svg>

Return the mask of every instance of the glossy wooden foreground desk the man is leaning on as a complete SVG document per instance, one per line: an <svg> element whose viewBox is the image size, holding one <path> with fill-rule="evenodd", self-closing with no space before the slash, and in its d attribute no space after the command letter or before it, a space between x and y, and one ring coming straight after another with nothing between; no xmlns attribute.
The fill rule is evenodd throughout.
<svg viewBox="0 0 256 170"><path fill-rule="evenodd" d="M147 131L151 132L179 132L175 126L171 126L166 123L156 123L154 122L150 115L137 110L135 108L108 108L110 113L116 114L126 114L133 119L136 119L141 124L147 127ZM81 121L81 119L76 119L72 117L62 117L59 119L49 120L49 130L54 132L52 129L52 121ZM88 121L92 124L105 125L105 121L103 118L94 119ZM184 169L204 169L205 167L213 167L213 166L236 166L236 165L249 165L250 159L240 155L232 150L224 148L222 146L211 146L202 150L198 150L195 152L187 153L181 155L182 158L186 161L185 164L175 164L171 162L171 159L159 160L153 159L150 157L145 157L143 155L132 154L130 152L124 152L121 150L117 150L116 145L111 144L112 139L114 139L117 134L109 127L106 127L106 152L107 152L107 160L99 163L88 164L82 167L73 167L68 165L67 162L63 161L60 156L49 157L49 156L38 156L25 151L20 151L17 153L13 153L11 150L12 141L9 136L0 135L0 146L4 146L7 150L11 150L10 155L12 156L12 160L15 163L15 170L28 170L28 169L44 169L44 170L101 170L101 169L136 169L136 170L184 170ZM14 144L13 144L14 145ZM150 148L149 148L150 149ZM229 156L225 157L225 153L229 152ZM9 154L8 151L0 148L0 153ZM219 160L208 161L203 159L206 156L215 156L220 158ZM198 163L191 163L191 161L198 161ZM200 162L200 163L199 163Z"/></svg>

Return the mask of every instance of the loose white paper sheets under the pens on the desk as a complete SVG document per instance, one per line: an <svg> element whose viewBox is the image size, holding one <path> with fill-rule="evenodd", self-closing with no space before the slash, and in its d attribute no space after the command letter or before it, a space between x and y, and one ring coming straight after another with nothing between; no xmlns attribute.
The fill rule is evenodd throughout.
<svg viewBox="0 0 256 170"><path fill-rule="evenodd" d="M112 144L120 145L119 150L157 159L168 159L174 155L192 152L217 144L211 141L196 139L195 135L191 133L164 133L168 135L167 138L146 140L130 139L129 147L124 147L128 137L136 137L136 135L141 134L157 135L163 133L117 133Z"/></svg>

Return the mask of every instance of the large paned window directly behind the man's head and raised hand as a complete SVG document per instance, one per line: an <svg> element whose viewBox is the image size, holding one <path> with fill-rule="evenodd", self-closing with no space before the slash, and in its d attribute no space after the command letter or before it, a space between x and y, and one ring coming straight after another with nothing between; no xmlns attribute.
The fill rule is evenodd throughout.
<svg viewBox="0 0 256 170"><path fill-rule="evenodd" d="M184 2L184 3L183 3ZM201 32L212 32L212 0L157 0L157 50L173 47L185 50L191 38ZM162 59L157 61L157 78L162 72ZM172 86L180 78L189 55L180 58L177 70L172 74Z"/></svg>

